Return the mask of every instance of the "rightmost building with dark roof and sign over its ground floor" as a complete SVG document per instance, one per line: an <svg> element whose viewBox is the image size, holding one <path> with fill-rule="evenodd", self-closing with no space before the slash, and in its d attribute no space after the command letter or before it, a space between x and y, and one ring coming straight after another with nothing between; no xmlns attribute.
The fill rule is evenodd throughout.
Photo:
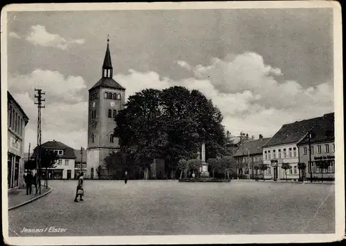
<svg viewBox="0 0 346 246"><path fill-rule="evenodd" d="M299 162L304 163L306 167L300 173L302 178L323 177L334 179L334 113L320 117L320 120L316 122L311 131L297 145L299 148ZM320 162L325 162L324 169L321 169L323 166L320 165Z"/></svg>

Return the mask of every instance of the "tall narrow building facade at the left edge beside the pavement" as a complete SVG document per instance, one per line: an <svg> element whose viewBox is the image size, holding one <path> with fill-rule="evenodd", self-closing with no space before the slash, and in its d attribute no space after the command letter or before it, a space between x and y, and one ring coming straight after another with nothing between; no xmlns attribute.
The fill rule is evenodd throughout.
<svg viewBox="0 0 346 246"><path fill-rule="evenodd" d="M24 187L24 136L28 116L7 93L8 118L8 189Z"/></svg>

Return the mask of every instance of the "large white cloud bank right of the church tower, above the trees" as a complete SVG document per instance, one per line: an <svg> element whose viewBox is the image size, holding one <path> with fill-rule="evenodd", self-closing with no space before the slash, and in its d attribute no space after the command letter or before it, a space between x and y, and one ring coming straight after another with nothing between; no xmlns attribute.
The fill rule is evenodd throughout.
<svg viewBox="0 0 346 246"><path fill-rule="evenodd" d="M277 82L271 74L280 76L280 68L264 64L256 53L213 58L208 66L191 66L177 61L194 72L195 77L173 81L160 78L154 72L117 75L127 88L127 96L144 88L185 86L198 89L221 110L223 124L231 133L245 131L249 135L271 136L282 124L318 117L334 111L334 88L331 82L302 88L295 81Z"/></svg>

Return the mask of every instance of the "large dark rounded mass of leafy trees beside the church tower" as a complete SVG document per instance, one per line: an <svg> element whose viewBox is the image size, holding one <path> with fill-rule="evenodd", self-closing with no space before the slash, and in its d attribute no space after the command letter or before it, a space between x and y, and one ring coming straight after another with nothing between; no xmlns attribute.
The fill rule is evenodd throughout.
<svg viewBox="0 0 346 246"><path fill-rule="evenodd" d="M206 157L215 158L224 146L222 115L202 93L174 86L146 89L129 97L116 117L115 135L131 162L149 168L154 158L165 158L165 170L179 169L179 160L197 157L206 143Z"/></svg>

